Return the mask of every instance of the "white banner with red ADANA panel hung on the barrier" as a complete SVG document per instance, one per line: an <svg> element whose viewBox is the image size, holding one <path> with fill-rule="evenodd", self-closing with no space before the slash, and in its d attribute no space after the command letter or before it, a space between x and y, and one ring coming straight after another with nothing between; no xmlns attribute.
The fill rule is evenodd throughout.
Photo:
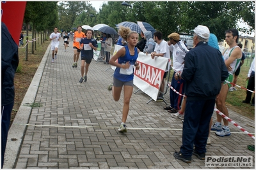
<svg viewBox="0 0 256 170"><path fill-rule="evenodd" d="M113 55L122 47L123 46L115 45ZM140 52L138 55L137 62L140 64L140 69L134 69L133 83L141 91L154 99L154 101L157 99L168 60L170 59L164 57L155 57L152 59L150 54L146 55L143 52ZM111 68L113 70L116 69L115 66L111 66Z"/></svg>

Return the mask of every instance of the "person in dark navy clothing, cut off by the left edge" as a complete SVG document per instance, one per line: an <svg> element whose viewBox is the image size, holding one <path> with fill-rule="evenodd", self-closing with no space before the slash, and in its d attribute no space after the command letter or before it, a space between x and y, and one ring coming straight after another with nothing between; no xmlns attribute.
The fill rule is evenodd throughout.
<svg viewBox="0 0 256 170"><path fill-rule="evenodd" d="M9 131L11 113L14 103L14 73L19 64L18 45L13 40L6 25L2 22L2 122L1 122L1 167L4 163L4 152Z"/></svg>

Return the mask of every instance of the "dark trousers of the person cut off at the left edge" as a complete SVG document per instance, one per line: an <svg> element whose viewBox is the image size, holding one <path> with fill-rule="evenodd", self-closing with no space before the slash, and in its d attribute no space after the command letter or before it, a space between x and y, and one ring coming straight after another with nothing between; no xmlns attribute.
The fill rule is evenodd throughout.
<svg viewBox="0 0 256 170"><path fill-rule="evenodd" d="M1 167L4 165L4 152L7 143L7 136L10 127L11 113L12 113L13 103L2 106L2 129L1 129Z"/></svg>

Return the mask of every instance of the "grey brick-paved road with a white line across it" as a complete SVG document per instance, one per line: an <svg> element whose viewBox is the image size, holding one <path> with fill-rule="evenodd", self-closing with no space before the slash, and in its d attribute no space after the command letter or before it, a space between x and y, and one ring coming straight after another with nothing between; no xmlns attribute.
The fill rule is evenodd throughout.
<svg viewBox="0 0 256 170"><path fill-rule="evenodd" d="M77 68L72 62L72 43L67 52L60 43L54 63L50 48L45 52L10 129L5 169L208 168L195 156L191 164L173 157L182 144L182 122L163 110L163 102L147 104L150 97L141 91L132 94L127 133L119 133L124 98L122 94L115 102L107 90L113 69L93 60L87 82L79 83L80 59ZM170 103L169 90L164 98ZM31 108L31 103L42 106ZM213 117L216 120L216 113ZM230 118L254 133L254 120L234 111ZM255 153L247 149L254 139L232 124L230 131L225 138L211 132L207 155L253 156L253 167L248 168L254 169Z"/></svg>

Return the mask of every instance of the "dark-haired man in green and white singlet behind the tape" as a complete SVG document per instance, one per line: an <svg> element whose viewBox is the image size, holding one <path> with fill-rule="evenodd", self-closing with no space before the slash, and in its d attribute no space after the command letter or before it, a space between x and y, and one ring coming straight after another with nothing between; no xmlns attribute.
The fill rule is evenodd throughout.
<svg viewBox="0 0 256 170"><path fill-rule="evenodd" d="M225 50L223 53L223 58L225 60L225 64L228 68L228 78L226 79L229 82L233 80L233 74L236 72L237 67L239 67L241 58L242 58L242 51L239 46L237 46L239 39L239 33L237 29L228 29L225 31L225 41L229 45L229 48ZM228 117L228 110L225 106L225 101L228 94L228 89L230 88L230 83L224 82L220 94L216 98L216 106L217 109L220 110L224 115ZM217 115L217 122L212 125L211 130L217 131L217 136L230 136L230 129L228 127L228 120L222 118L221 115L218 113ZM223 120L223 126L221 125L221 120Z"/></svg>

